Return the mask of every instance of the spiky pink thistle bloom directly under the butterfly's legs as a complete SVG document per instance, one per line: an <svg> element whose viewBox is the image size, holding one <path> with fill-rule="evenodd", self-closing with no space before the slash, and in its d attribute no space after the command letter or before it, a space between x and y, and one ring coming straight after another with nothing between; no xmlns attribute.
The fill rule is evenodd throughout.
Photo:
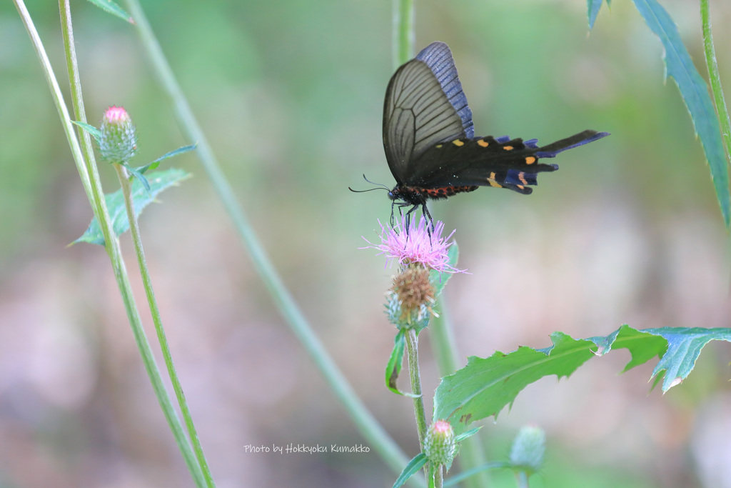
<svg viewBox="0 0 731 488"><path fill-rule="evenodd" d="M447 237L442 237L444 231L444 222L437 220L431 236L428 232L430 222L421 217L419 223L410 222L409 230L406 231L406 216L402 215L400 222L394 228L388 225L381 226L381 244L374 244L365 237L364 241L371 244L361 249L378 249L379 254L385 255L387 260L398 260L401 266L409 266L409 264L421 264L427 269L433 269L446 273L463 273L463 269L456 269L449 264L449 255L447 251L452 245L448 242L454 235L452 230Z"/></svg>

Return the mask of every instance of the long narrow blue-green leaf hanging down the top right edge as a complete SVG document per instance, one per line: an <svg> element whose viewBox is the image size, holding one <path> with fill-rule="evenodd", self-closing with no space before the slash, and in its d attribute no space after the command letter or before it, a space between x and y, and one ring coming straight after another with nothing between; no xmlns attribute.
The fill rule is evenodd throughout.
<svg viewBox="0 0 731 488"><path fill-rule="evenodd" d="M711 168L716 198L719 200L721 213L728 228L731 224L728 166L721 139L721 127L711 102L711 95L708 94L708 85L695 69L690 54L678 34L678 28L667 11L656 0L634 1L645 23L662 42L665 50L665 76L675 80L690 112L695 132L700 137L705 158Z"/></svg>

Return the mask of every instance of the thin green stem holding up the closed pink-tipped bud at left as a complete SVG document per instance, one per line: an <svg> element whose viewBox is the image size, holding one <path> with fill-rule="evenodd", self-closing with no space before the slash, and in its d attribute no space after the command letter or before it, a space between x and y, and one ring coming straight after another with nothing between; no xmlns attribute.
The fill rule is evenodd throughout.
<svg viewBox="0 0 731 488"><path fill-rule="evenodd" d="M157 307L155 291L152 288L150 270L148 269L147 260L145 259L145 249L143 249L142 236L140 236L140 226L137 224L137 216L135 215L135 204L132 201L132 184L129 181L129 173L127 173L127 170L123 165L115 164L113 166L117 172L117 178L119 179L119 184L122 188L122 195L124 195L124 206L127 211L127 219L129 220L129 231L132 234L132 242L135 244L137 266L139 266L140 274L142 275L143 285L145 286L145 295L147 296L147 303L150 307L152 320L155 324L157 340L160 344L160 349L162 350L165 367L167 367L167 375L170 376L170 381L173 383L175 398L178 399L178 405L180 406L181 413L183 414L183 421L185 421L186 428L188 429L188 437L193 444L195 457L198 460L198 465L200 465L200 470L205 478L206 486L208 486L208 488L213 488L216 484L213 481L213 476L211 476L211 469L208 468L208 462L205 459L205 454L203 454L203 448L200 445L198 432L195 429L195 424L193 424L193 416L190 413L188 402L186 402L183 387L181 386L180 379L178 378L178 372L175 371L173 355L170 353L170 345L167 342L165 329L162 326L160 309Z"/></svg>

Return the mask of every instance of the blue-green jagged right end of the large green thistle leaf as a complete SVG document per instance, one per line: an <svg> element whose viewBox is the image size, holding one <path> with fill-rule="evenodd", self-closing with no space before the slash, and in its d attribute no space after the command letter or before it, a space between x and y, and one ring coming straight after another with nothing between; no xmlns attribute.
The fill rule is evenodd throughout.
<svg viewBox="0 0 731 488"><path fill-rule="evenodd" d="M700 327L662 327L645 329L643 332L655 334L667 341L667 351L652 370L652 378L665 372L662 391L680 384L688 377L700 356L702 348L713 340L731 342L731 329L701 329Z"/></svg>

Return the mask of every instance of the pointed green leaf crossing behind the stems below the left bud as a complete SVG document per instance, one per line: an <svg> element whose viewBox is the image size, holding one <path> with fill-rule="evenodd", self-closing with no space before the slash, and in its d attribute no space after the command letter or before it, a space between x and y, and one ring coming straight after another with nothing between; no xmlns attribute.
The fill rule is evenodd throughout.
<svg viewBox="0 0 731 488"><path fill-rule="evenodd" d="M184 179L190 178L190 176L190 173L176 168L151 173L148 175L148 181L150 182L149 192L143 187L140 181L137 179L133 180L132 203L135 206L135 215L140 215L140 212L154 201L159 192L178 185ZM124 208L122 190L118 189L114 193L105 195L105 202L107 203L109 216L112 219L114 233L119 236L129 229L129 220L127 219ZM96 217L91 219L91 224L89 224L83 236L73 241L72 244L76 244L77 242L88 242L89 244L99 244L101 246L105 244L102 229L99 228L99 222L96 221Z"/></svg>

